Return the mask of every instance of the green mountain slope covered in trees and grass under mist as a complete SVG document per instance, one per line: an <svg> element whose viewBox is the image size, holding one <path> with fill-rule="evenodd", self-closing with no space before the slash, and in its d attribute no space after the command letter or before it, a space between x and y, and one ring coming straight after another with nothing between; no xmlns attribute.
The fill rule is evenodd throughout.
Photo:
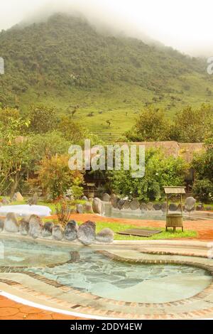
<svg viewBox="0 0 213 334"><path fill-rule="evenodd" d="M1 105L27 112L35 103L69 113L104 137L117 138L148 105L168 117L186 104L212 102L204 60L134 38L99 33L83 18L57 14L0 33Z"/></svg>

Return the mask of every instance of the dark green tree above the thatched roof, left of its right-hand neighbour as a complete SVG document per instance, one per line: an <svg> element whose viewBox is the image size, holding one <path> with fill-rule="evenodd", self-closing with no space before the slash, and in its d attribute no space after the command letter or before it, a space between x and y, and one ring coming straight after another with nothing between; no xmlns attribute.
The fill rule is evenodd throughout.
<svg viewBox="0 0 213 334"><path fill-rule="evenodd" d="M163 110L148 107L136 120L135 126L126 133L129 141L167 141L170 139L170 123Z"/></svg>

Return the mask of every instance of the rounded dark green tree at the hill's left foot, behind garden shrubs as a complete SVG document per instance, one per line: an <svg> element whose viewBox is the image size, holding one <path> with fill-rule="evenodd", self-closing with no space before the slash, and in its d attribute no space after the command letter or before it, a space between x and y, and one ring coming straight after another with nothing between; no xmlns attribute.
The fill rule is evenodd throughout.
<svg viewBox="0 0 213 334"><path fill-rule="evenodd" d="M57 126L57 117L55 110L45 106L33 106L29 113L30 126L29 131L35 134L45 134L53 131Z"/></svg>

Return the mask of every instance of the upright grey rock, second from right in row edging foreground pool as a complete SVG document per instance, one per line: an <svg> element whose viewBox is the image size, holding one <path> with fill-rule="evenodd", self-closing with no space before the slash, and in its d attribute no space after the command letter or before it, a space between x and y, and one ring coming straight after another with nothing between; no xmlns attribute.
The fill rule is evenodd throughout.
<svg viewBox="0 0 213 334"><path fill-rule="evenodd" d="M84 222L80 225L77 231L77 238L82 242L82 244L89 245L92 244L95 240L95 222Z"/></svg>

